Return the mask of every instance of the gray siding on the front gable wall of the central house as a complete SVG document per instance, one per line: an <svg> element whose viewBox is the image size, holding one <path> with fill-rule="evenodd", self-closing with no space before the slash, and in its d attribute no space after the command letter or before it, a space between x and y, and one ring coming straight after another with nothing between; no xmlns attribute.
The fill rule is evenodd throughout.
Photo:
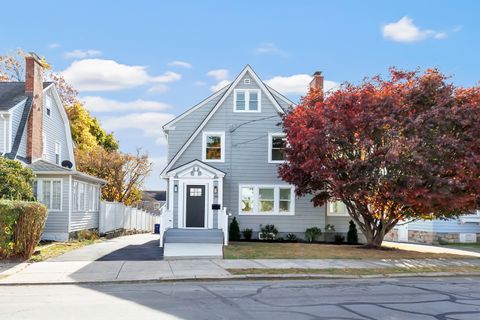
<svg viewBox="0 0 480 320"><path fill-rule="evenodd" d="M250 77L248 74L247 77ZM250 77L251 78L251 77ZM258 89L253 79L250 85L245 85L243 79L237 89ZM325 207L314 208L310 198L303 197L295 200L295 215L239 215L239 184L279 184L285 185L277 174L278 164L268 163L268 133L281 132L277 124L281 121L278 111L272 105L265 92L261 94L260 113L234 113L233 92L226 98L222 106L212 116L203 128L203 131L225 132L225 162L206 162L207 164L226 173L224 178L224 207L228 212L237 216L240 228L259 230L260 224L274 224L277 229L284 232L303 233L306 228L325 226ZM260 120L261 119L261 120ZM257 121L259 120L259 121ZM237 127L242 125L240 127ZM177 129L178 129L177 125ZM237 129L230 132L231 128ZM177 130L176 129L176 130ZM202 139L200 133L185 150L173 167L190 162L194 159L202 159ZM183 144L186 138L170 140L172 149ZM177 201L174 201L174 213L177 210ZM175 216L175 214L174 214Z"/></svg>

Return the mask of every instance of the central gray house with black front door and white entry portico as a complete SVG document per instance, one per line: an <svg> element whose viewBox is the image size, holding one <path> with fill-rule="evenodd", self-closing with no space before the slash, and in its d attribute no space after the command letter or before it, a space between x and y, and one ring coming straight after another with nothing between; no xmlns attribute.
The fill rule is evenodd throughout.
<svg viewBox="0 0 480 320"><path fill-rule="evenodd" d="M311 86L323 89L320 73ZM324 230L328 224L346 232L345 208L314 207L278 177L286 143L279 123L293 107L247 65L230 85L163 127L168 139L160 240L165 257L221 256L232 216L255 237L266 224L301 238L306 228Z"/></svg>

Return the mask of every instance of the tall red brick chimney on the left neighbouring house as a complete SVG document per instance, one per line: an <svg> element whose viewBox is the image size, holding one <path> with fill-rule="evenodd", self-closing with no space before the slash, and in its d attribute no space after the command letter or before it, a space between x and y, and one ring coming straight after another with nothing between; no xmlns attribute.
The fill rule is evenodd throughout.
<svg viewBox="0 0 480 320"><path fill-rule="evenodd" d="M25 57L25 95L32 99L27 121L27 160L31 163L43 153L43 67L33 52Z"/></svg>

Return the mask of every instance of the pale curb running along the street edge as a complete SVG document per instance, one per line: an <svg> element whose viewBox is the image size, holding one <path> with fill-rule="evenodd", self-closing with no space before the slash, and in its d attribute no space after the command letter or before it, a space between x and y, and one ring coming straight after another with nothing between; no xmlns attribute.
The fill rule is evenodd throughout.
<svg viewBox="0 0 480 320"><path fill-rule="evenodd" d="M56 285L107 285L107 284L146 284L146 283L174 283L174 282L209 282L209 281L273 281L273 280L343 280L343 279L394 279L394 278L432 278L432 277L480 277L480 272L423 272L423 273L386 273L373 275L331 275L331 274L246 274L229 275L222 277L195 276L170 277L144 280L106 280L106 281L77 281L77 282L17 282L0 283L0 287L13 286L56 286Z"/></svg>

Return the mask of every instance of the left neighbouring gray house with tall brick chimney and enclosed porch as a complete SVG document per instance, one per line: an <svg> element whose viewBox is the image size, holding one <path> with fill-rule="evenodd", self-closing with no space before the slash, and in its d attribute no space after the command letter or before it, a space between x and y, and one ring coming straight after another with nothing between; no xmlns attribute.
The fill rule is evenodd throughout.
<svg viewBox="0 0 480 320"><path fill-rule="evenodd" d="M98 228L103 180L76 170L70 123L55 84L30 54L24 82L0 82L0 155L36 174L33 193L48 208L42 238L67 240Z"/></svg>

